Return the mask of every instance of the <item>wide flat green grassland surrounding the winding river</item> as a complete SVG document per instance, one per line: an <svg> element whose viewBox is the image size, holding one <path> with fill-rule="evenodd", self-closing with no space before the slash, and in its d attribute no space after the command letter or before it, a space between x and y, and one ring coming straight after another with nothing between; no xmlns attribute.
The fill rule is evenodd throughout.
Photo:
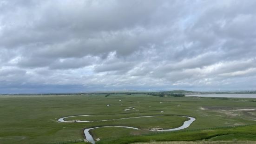
<svg viewBox="0 0 256 144"><path fill-rule="evenodd" d="M124 111L129 107L135 109ZM66 120L164 116L91 123L58 122L61 117L75 115L90 116ZM149 131L151 128L176 128L188 120L177 115L194 117L196 121L181 131ZM116 127L93 129L93 137L100 138L97 144L256 141L256 101L255 98L156 97L145 94L112 94L108 97L92 94L0 96L0 144L80 144L85 139L85 128L112 125L140 130Z"/></svg>

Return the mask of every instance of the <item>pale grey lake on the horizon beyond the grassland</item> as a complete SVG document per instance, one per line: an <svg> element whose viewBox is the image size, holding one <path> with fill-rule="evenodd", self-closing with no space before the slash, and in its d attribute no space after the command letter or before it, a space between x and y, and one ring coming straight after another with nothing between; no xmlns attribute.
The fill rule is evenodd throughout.
<svg viewBox="0 0 256 144"><path fill-rule="evenodd" d="M189 94L187 97L256 98L256 94Z"/></svg>

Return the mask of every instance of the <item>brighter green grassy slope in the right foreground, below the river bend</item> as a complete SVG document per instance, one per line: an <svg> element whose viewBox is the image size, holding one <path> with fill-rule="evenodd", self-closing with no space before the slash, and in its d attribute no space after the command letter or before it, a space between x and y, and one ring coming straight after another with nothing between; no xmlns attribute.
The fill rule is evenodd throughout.
<svg viewBox="0 0 256 144"><path fill-rule="evenodd" d="M143 136L119 137L118 139L108 139L98 144L130 144L134 142L150 141L219 141L219 140L250 140L256 141L256 125L189 130L179 132L166 132L158 134L149 134Z"/></svg>

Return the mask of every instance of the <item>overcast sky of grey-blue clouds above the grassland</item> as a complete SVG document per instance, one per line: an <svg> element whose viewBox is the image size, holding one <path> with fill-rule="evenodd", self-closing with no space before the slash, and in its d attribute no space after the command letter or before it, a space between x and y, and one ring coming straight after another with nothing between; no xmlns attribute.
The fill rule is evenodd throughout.
<svg viewBox="0 0 256 144"><path fill-rule="evenodd" d="M0 93L256 89L256 0L0 0Z"/></svg>

